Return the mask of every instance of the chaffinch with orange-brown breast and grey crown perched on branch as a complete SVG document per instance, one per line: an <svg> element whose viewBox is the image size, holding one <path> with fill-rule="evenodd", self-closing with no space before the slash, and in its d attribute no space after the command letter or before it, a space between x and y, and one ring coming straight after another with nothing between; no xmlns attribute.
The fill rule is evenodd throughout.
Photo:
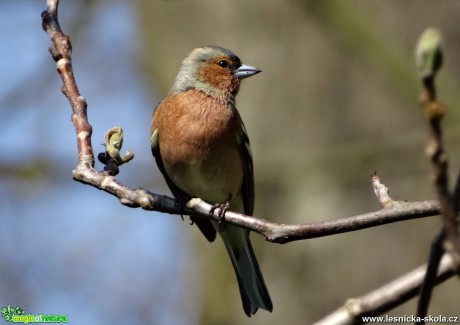
<svg viewBox="0 0 460 325"><path fill-rule="evenodd" d="M236 109L241 80L261 72L219 46L194 49L183 61L167 97L155 108L150 144L176 199L197 197L246 215L254 210L254 171L246 128ZM224 221L193 218L206 239L222 237L235 270L244 312L273 305L252 248L249 230Z"/></svg>

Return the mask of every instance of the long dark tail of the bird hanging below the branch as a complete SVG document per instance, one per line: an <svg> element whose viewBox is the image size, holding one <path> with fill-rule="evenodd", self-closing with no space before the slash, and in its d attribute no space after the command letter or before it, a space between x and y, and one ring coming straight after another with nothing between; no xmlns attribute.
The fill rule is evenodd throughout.
<svg viewBox="0 0 460 325"><path fill-rule="evenodd" d="M244 312L249 317L259 308L271 312L272 301L249 240L249 231L225 225L220 235L235 269Z"/></svg>

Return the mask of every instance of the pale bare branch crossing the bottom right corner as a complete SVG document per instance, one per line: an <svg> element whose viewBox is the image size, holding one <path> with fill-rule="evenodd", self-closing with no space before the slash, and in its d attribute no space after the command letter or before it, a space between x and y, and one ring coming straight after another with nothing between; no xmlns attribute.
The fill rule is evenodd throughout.
<svg viewBox="0 0 460 325"><path fill-rule="evenodd" d="M361 324L364 322L361 317L381 315L403 304L418 295L426 268L426 265L421 266L375 291L347 300L341 308L315 325ZM455 263L450 255L445 255L440 263L436 284L442 283L453 275L455 275Z"/></svg>

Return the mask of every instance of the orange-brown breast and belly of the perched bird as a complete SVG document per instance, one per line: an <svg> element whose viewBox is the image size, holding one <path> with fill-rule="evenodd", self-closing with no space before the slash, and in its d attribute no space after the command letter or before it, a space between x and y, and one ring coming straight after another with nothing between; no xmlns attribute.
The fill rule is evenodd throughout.
<svg viewBox="0 0 460 325"><path fill-rule="evenodd" d="M240 193L241 121L235 110L196 90L169 97L158 106L152 130L158 129L165 170L189 195L224 203L229 195L233 199Z"/></svg>

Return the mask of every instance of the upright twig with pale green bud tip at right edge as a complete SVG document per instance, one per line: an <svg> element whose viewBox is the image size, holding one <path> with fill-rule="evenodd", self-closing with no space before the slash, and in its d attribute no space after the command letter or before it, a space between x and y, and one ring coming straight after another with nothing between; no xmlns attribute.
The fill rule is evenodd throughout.
<svg viewBox="0 0 460 325"><path fill-rule="evenodd" d="M424 277L417 306L418 324L425 324L436 273L444 251L448 252L457 271L460 266L460 241L456 216L458 213L459 184L453 193L449 190L448 158L443 147L441 121L446 107L436 98L435 77L442 65L441 34L429 28L420 37L416 48L416 65L423 86L420 104L428 124L428 144L426 153L431 160L434 186L438 195L443 218L443 228L433 239L428 259L428 269Z"/></svg>

